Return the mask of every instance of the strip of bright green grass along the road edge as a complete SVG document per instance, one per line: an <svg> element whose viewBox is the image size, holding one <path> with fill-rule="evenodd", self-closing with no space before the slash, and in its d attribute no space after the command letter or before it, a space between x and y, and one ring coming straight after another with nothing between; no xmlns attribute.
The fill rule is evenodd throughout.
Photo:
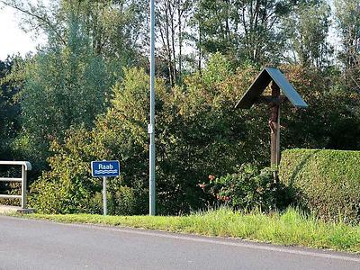
<svg viewBox="0 0 360 270"><path fill-rule="evenodd" d="M312 217L305 217L293 209L289 209L283 214L271 215L242 214L220 209L181 217L103 217L89 214L31 214L26 217L66 223L102 224L205 236L243 238L281 245L330 248L360 253L360 226L326 223Z"/></svg>

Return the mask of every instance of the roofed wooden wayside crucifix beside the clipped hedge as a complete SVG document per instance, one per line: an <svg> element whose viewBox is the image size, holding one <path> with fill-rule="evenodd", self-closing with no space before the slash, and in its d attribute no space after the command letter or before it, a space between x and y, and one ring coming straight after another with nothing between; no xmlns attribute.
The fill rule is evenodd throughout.
<svg viewBox="0 0 360 270"><path fill-rule="evenodd" d="M271 85L270 85L271 84ZM261 95L270 85L271 95ZM281 95L283 92L284 95ZM266 67L257 76L247 92L242 96L235 108L249 109L254 103L267 103L270 108L270 141L271 166L280 164L280 107L284 101L289 100L297 108L307 108L308 104L302 100L293 85L289 83L284 74L277 68ZM277 174L275 173L275 181Z"/></svg>

